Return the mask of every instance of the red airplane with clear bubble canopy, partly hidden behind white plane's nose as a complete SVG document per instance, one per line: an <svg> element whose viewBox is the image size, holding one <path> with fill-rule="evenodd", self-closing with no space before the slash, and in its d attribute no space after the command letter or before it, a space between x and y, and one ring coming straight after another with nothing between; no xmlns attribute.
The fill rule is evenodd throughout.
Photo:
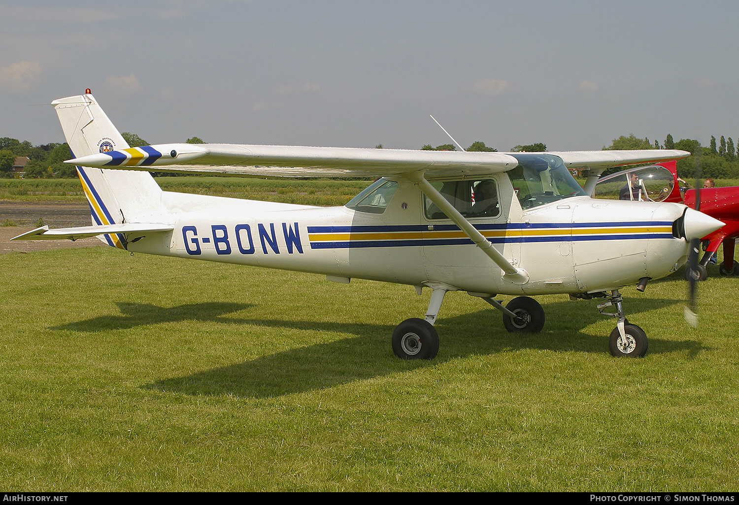
<svg viewBox="0 0 739 505"><path fill-rule="evenodd" d="M680 186L677 162L661 162L648 167L630 168L599 179L593 189L594 198L640 200L642 202L676 202L695 209L698 189ZM587 190L588 188L586 188ZM723 262L718 266L721 275L739 275L739 263L734 261L735 239L739 238L739 186L700 188L701 212L726 223L705 236L703 258L695 273L698 281L708 277L706 264L711 261L723 243ZM707 244L707 245L706 245ZM691 275L689 269L686 278Z"/></svg>

